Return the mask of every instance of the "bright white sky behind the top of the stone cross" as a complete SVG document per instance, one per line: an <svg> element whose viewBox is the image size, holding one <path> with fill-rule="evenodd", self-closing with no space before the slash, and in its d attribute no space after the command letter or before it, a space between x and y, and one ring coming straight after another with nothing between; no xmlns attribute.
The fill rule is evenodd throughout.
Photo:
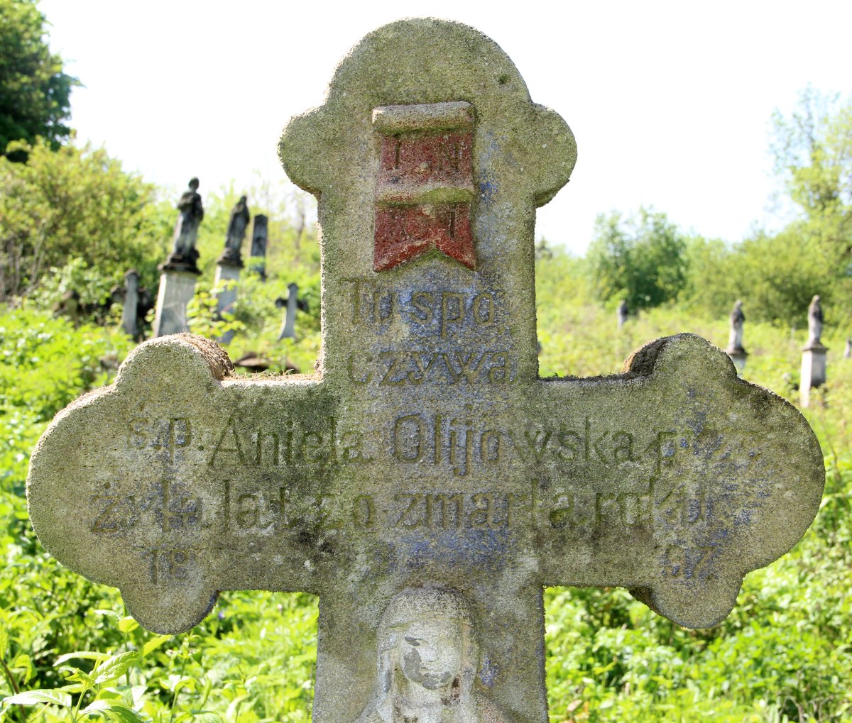
<svg viewBox="0 0 852 723"><path fill-rule="evenodd" d="M537 238L582 253L595 216L651 204L737 241L771 227L774 108L808 83L849 95L852 3L373 3L43 0L51 49L84 87L72 125L149 181L201 192L259 171L291 115L320 104L337 60L400 17L460 20L515 61L577 137L572 181Z"/></svg>

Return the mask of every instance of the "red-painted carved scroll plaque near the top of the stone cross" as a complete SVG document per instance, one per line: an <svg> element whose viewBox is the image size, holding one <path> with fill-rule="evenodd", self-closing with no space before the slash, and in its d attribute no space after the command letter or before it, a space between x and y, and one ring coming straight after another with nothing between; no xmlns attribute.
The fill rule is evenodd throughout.
<svg viewBox="0 0 852 723"><path fill-rule="evenodd" d="M382 134L373 270L430 250L475 268L473 106L381 106L373 110L373 126Z"/></svg>

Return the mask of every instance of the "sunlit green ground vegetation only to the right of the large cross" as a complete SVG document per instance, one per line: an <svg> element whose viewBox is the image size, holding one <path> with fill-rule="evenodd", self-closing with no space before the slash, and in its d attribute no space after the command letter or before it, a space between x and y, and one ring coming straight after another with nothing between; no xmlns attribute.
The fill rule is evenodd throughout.
<svg viewBox="0 0 852 723"><path fill-rule="evenodd" d="M539 278L549 261L539 261ZM620 370L636 347L693 331L723 345L727 319L660 307L617 330L600 307L551 307L537 284L541 374ZM544 287L544 288L543 288ZM542 309L548 309L543 313ZM680 308L680 307L679 307ZM772 324L746 323L744 376L795 402L801 347ZM843 336L826 330L827 406L805 410L826 452L826 495L792 553L750 573L732 614L690 631L654 615L624 590L546 591L550 720L829 721L852 714L852 365Z"/></svg>

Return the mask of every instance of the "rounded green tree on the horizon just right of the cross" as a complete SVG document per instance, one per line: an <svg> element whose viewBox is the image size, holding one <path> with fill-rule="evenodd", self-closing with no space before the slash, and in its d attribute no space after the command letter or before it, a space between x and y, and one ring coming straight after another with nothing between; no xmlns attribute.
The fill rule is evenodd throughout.
<svg viewBox="0 0 852 723"><path fill-rule="evenodd" d="M686 284L685 250L664 213L641 208L627 219L617 211L598 215L588 254L598 296L625 299L630 309L673 301Z"/></svg>

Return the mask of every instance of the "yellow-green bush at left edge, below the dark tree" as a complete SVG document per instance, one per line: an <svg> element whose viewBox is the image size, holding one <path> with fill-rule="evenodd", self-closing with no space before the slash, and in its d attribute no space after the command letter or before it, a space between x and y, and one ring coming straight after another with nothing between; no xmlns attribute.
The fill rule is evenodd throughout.
<svg viewBox="0 0 852 723"><path fill-rule="evenodd" d="M131 267L141 284L156 283L174 218L153 186L103 149L54 152L44 141L9 147L28 158L0 158L0 302L31 292L51 267L74 259L97 268L105 287Z"/></svg>

